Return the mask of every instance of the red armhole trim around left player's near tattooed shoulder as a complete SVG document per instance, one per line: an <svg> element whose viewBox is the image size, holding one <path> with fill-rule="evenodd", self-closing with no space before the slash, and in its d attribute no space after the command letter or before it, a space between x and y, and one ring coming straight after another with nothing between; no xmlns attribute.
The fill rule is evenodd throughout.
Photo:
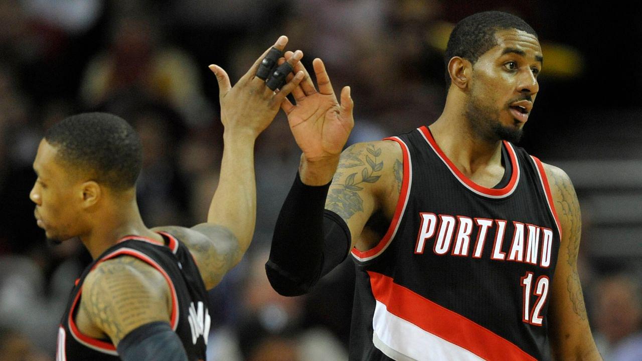
<svg viewBox="0 0 642 361"><path fill-rule="evenodd" d="M171 291L171 316L169 318L169 324L171 325L171 329L173 331L176 331L176 328L178 326L178 312L179 312L178 296L176 294L176 289L174 288L174 283L171 281L171 278L169 278L169 275L167 274L167 272L165 272L165 270L162 269L162 267L160 267L158 263L152 260L152 258L149 258L143 252L136 251L135 249L121 248L101 258L101 260L96 262L96 264L91 268L91 270L94 270L103 261L107 261L122 255L132 256L132 257L138 258L141 261L144 261L148 265L152 266L154 269L158 270L160 274L162 274L162 276L165 278L165 280L169 285L169 290ZM76 294L76 297L74 298L74 302L71 304L71 309L69 310L69 319L67 321L69 323L69 331L71 331L71 335L74 337L74 339L76 339L76 341L78 341L83 346L94 349L101 353L107 353L108 355L117 356L118 353L116 351L116 348L114 347L114 344L110 342L105 342L103 340L94 339L93 337L84 335L83 333L80 332L80 330L78 330L78 326L76 326L76 322L74 321L74 310L76 309L78 300L80 300L80 295L82 295L82 286L80 286L80 290L78 290L78 294Z"/></svg>

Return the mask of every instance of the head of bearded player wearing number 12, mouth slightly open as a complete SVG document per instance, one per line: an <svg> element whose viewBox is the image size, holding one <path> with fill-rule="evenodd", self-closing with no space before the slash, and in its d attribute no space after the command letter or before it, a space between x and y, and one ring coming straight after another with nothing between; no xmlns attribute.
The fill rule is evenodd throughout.
<svg viewBox="0 0 642 361"><path fill-rule="evenodd" d="M456 24L444 60L449 93L465 94L476 134L518 141L539 91L543 58L533 28L509 13L476 13Z"/></svg>

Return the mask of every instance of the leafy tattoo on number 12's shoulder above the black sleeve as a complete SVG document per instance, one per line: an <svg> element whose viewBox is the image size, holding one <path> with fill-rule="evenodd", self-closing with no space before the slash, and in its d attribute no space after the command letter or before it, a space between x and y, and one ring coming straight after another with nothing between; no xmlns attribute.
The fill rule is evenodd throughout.
<svg viewBox="0 0 642 361"><path fill-rule="evenodd" d="M338 183L339 177L342 177L343 173L339 173L338 177L335 175L333 187L327 195L325 207L341 216L344 220L349 219L357 212L363 211L363 199L358 193L363 187L359 186L359 184L374 183L381 178L381 175L375 174L383 170L383 161L377 161L377 158L381 156L381 148L376 148L374 145L369 144L365 150L368 154L363 152L363 148L355 149L355 146L347 148L342 155L342 162L338 168L365 167L361 168L361 172L350 173L345 177L343 184ZM365 158L363 158L364 155ZM365 162L363 159L365 159ZM361 180L357 182L358 175L360 175Z"/></svg>

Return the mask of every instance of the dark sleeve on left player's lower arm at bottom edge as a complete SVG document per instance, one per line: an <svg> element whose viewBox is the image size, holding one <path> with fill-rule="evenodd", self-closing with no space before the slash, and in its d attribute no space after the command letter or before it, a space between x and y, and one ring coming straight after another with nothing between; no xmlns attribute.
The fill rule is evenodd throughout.
<svg viewBox="0 0 642 361"><path fill-rule="evenodd" d="M128 333L118 342L123 361L187 361L178 335L167 322L151 322Z"/></svg>

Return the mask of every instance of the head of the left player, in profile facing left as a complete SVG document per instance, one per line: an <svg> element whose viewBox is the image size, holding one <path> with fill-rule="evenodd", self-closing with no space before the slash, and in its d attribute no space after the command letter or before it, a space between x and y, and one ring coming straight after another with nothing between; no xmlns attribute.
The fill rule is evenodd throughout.
<svg viewBox="0 0 642 361"><path fill-rule="evenodd" d="M78 114L49 128L33 162L38 179L30 193L47 238L80 236L108 199L133 199L141 164L134 128L112 114Z"/></svg>

